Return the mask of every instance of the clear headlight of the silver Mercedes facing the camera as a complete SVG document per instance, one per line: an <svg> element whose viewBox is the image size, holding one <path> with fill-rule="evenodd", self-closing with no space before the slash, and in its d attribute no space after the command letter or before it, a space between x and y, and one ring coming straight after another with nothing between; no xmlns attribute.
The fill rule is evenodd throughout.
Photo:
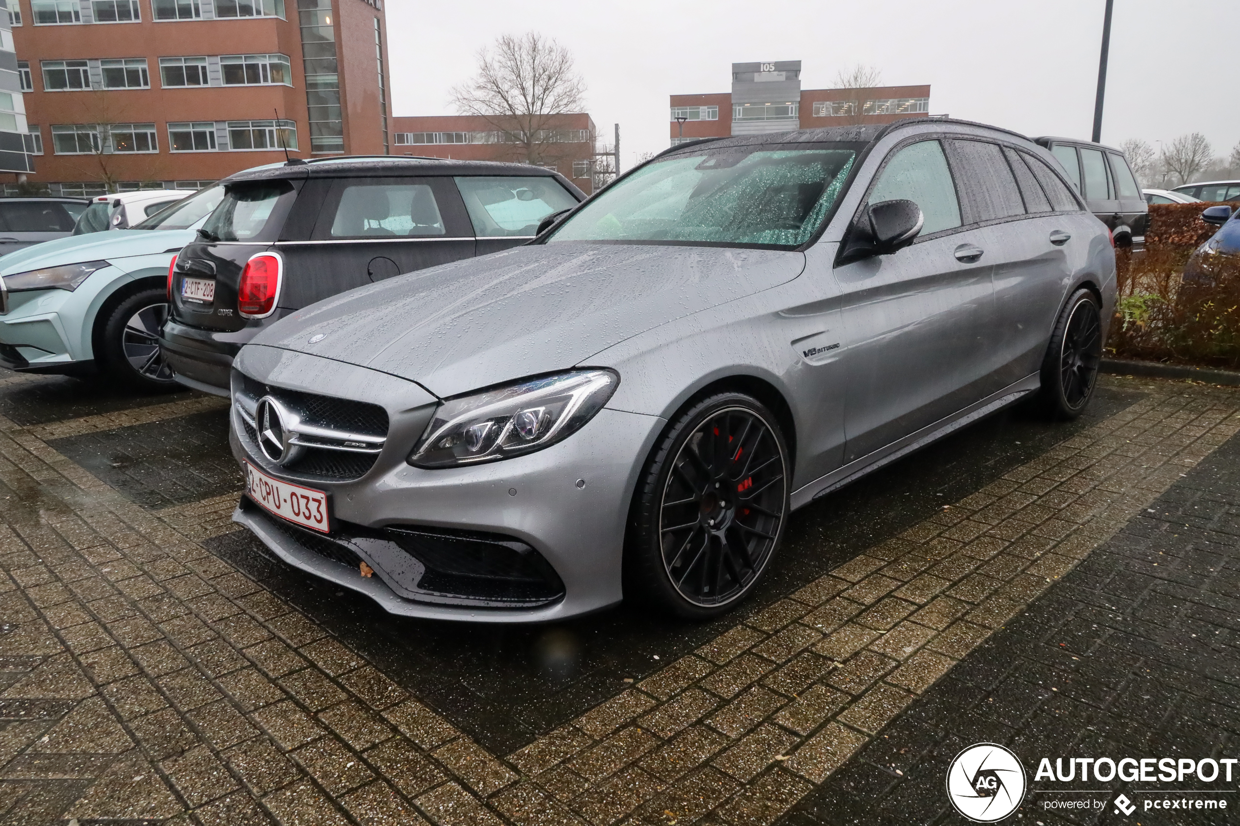
<svg viewBox="0 0 1240 826"><path fill-rule="evenodd" d="M454 467L541 451L580 430L619 384L611 370L578 370L449 399L439 405L409 464Z"/></svg>

